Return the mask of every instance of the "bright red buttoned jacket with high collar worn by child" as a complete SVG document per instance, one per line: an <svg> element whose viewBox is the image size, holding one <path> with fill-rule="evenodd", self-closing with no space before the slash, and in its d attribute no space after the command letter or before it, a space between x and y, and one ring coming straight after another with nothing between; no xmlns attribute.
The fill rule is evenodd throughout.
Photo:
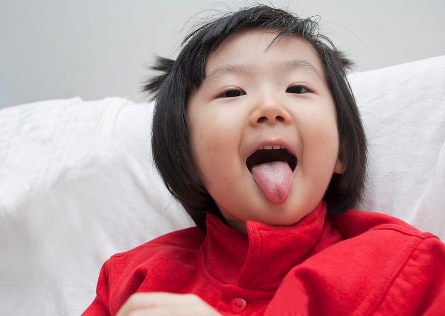
<svg viewBox="0 0 445 316"><path fill-rule="evenodd" d="M322 202L293 226L208 215L111 257L84 316L115 315L134 292L195 293L223 315L445 315L445 245L398 219Z"/></svg>

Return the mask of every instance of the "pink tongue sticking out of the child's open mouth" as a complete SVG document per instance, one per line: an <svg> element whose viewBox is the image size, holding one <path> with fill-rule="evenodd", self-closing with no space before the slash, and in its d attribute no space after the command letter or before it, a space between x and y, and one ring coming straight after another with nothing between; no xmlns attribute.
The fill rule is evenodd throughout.
<svg viewBox="0 0 445 316"><path fill-rule="evenodd" d="M272 161L255 165L251 173L270 203L281 204L287 200L293 180L292 170L287 162Z"/></svg>

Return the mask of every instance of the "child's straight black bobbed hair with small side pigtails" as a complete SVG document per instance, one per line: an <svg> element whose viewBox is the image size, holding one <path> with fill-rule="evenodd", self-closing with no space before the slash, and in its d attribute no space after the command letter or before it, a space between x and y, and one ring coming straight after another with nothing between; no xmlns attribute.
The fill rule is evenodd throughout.
<svg viewBox="0 0 445 316"><path fill-rule="evenodd" d="M167 188L193 221L205 229L206 213L221 213L199 178L190 144L186 116L187 96L205 78L208 53L215 51L232 33L245 28L272 29L278 39L299 36L316 49L333 96L340 137L340 158L345 172L334 174L325 192L328 213L341 214L361 197L366 174L366 139L356 101L346 78L352 63L333 43L319 34L312 19L299 18L285 10L258 5L224 15L190 33L176 60L158 58L154 70L163 72L147 82L144 90L156 99L152 148L153 158Z"/></svg>

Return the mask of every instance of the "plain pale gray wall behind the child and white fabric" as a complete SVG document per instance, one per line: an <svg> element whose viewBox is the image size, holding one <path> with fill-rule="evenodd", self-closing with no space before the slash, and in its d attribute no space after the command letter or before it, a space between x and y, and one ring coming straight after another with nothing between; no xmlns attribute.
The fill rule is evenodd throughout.
<svg viewBox="0 0 445 316"><path fill-rule="evenodd" d="M145 65L155 54L176 55L187 30L202 20L197 12L225 7L204 0L0 1L0 108L72 96L144 101L138 90L150 74ZM445 54L444 0L269 3L319 15L357 71Z"/></svg>

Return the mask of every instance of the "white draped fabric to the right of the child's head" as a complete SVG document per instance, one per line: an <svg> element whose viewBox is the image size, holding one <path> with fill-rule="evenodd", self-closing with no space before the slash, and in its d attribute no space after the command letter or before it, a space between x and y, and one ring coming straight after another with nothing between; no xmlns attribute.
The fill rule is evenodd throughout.
<svg viewBox="0 0 445 316"><path fill-rule="evenodd" d="M369 141L359 206L445 241L445 56L349 76Z"/></svg>

